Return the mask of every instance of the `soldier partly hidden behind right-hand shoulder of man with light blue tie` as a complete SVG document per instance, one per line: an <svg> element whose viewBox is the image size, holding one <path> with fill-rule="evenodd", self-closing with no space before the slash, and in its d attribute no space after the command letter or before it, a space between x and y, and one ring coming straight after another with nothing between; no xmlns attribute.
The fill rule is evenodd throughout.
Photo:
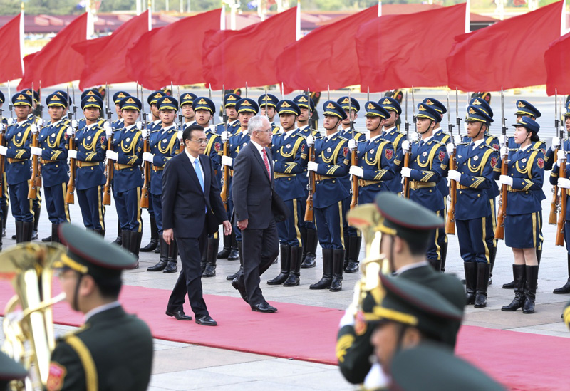
<svg viewBox="0 0 570 391"><path fill-rule="evenodd" d="M216 177L221 181L222 138L214 131L214 125L209 125L210 120L212 120L212 115L214 115L215 112L216 105L211 99L206 97L196 97L194 99L192 103L192 113L195 113L196 123L204 127L207 138L204 155L209 156L212 161L212 168L214 172L217 173ZM216 232L213 235L209 235L206 251L202 254L202 277L214 277L216 275L218 246L219 234Z"/></svg>

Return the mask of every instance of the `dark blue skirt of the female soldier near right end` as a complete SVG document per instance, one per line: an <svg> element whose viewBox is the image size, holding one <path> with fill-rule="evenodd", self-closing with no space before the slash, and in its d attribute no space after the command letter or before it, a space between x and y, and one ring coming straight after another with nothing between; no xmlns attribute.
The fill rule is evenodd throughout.
<svg viewBox="0 0 570 391"><path fill-rule="evenodd" d="M515 249L534 249L540 242L540 212L507 214L504 244Z"/></svg>

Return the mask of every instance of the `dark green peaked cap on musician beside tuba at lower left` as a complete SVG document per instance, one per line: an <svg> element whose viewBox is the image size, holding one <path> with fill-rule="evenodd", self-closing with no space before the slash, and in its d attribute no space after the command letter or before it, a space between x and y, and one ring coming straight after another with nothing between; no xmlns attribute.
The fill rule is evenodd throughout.
<svg viewBox="0 0 570 391"><path fill-rule="evenodd" d="M67 267L91 276L120 278L121 271L136 262L133 254L107 243L103 236L73 224L61 224L59 238L68 251L61 261L53 264L56 268Z"/></svg>

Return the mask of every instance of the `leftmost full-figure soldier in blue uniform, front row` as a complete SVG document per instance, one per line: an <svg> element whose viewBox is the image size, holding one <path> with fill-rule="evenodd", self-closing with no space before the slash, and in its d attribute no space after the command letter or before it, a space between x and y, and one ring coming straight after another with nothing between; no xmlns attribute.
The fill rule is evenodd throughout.
<svg viewBox="0 0 570 391"><path fill-rule="evenodd" d="M6 128L6 146L0 146L0 155L6 157L4 186L8 185L12 216L16 220L16 243L21 243L31 241L33 231L33 202L28 199L28 182L31 178L32 132L38 130L28 119L32 108L31 96L16 93L11 99L16 122Z"/></svg>

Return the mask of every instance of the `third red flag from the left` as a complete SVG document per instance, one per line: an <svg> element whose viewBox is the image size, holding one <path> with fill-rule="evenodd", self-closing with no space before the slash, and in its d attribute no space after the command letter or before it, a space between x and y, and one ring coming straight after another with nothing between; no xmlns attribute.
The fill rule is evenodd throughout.
<svg viewBox="0 0 570 391"><path fill-rule="evenodd" d="M81 72L81 90L105 83L135 81L126 66L128 49L150 29L150 11L122 24L110 36L75 43L71 47L83 56L85 66Z"/></svg>

